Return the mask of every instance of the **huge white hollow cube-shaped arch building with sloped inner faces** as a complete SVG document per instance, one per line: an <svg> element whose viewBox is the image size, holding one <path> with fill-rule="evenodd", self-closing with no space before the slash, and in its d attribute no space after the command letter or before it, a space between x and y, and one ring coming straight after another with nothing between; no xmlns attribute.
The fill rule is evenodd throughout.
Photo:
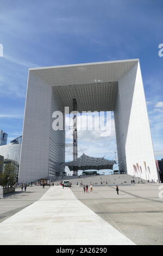
<svg viewBox="0 0 163 256"><path fill-rule="evenodd" d="M133 164L158 179L139 59L52 66L29 70L19 181L64 172L65 131L52 129L52 113L76 98L78 111L114 111L120 169ZM147 176L148 178L148 176Z"/></svg>

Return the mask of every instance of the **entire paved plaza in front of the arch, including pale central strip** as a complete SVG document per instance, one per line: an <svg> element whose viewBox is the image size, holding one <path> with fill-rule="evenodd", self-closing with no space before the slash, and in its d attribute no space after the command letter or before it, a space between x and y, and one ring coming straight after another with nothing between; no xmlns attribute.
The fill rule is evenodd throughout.
<svg viewBox="0 0 163 256"><path fill-rule="evenodd" d="M162 245L160 185L19 189L0 200L0 244Z"/></svg>

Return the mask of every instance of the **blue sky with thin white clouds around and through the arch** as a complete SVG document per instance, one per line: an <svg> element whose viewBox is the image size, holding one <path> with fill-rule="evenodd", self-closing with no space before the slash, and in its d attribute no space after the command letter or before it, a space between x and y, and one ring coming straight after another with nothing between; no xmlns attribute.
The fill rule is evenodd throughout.
<svg viewBox="0 0 163 256"><path fill-rule="evenodd" d="M0 0L0 129L9 140L22 133L29 68L139 58L155 155L163 157L162 11L162 0ZM89 138L79 134L79 143L103 156L110 138L92 138L89 150Z"/></svg>

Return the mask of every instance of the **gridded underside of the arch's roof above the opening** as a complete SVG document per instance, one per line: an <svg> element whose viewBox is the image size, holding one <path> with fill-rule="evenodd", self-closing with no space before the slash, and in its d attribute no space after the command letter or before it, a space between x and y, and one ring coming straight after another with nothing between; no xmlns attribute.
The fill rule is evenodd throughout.
<svg viewBox="0 0 163 256"><path fill-rule="evenodd" d="M77 101L77 110L82 111L113 111L116 99L117 82L98 82L56 86L56 93L65 106L73 111L73 101Z"/></svg>

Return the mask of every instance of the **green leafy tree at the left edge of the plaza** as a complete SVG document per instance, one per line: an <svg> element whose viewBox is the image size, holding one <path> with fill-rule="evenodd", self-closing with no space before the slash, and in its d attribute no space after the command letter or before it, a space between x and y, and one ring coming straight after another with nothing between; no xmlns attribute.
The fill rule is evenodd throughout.
<svg viewBox="0 0 163 256"><path fill-rule="evenodd" d="M14 164L6 164L4 172L0 173L0 185L5 187L12 187L16 183L16 173Z"/></svg>

